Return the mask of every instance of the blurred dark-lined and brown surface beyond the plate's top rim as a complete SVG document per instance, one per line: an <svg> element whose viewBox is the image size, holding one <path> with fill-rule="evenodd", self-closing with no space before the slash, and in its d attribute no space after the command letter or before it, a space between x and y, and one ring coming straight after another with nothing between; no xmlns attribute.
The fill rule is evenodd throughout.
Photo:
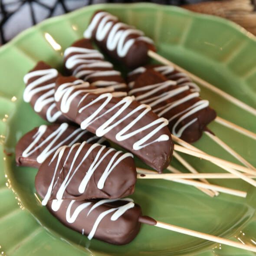
<svg viewBox="0 0 256 256"><path fill-rule="evenodd" d="M49 17L97 3L149 2L176 5L232 20L256 35L256 0L0 0L0 44Z"/></svg>

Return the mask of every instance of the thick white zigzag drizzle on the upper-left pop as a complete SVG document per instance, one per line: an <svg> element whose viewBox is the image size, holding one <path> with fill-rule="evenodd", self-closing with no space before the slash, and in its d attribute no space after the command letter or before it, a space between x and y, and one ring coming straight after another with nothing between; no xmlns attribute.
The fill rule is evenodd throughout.
<svg viewBox="0 0 256 256"><path fill-rule="evenodd" d="M55 122L62 114L60 111L56 110L56 103L54 101L55 82L48 83L43 86L42 84L46 83L51 79L57 78L57 76L58 71L56 69L36 70L24 76L24 82L27 85L23 93L24 101L30 102L34 95L45 91L41 96L36 99L36 102L34 104L34 110L35 112L41 112L46 105L50 104L46 111L46 119L49 122ZM28 84L28 81L34 77L38 78ZM55 109L56 111L53 112L53 109Z"/></svg>

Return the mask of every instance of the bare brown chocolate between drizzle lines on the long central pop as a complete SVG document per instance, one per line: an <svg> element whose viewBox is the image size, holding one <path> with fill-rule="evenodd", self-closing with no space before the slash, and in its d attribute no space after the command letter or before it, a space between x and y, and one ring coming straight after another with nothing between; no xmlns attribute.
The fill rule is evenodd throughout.
<svg viewBox="0 0 256 256"><path fill-rule="evenodd" d="M60 77L56 81L56 88L61 86L63 83L74 82L74 81L75 81L75 78L73 77ZM75 86L76 85L74 85L73 87L76 88ZM60 110L62 110L62 112L63 112L63 109L61 108L61 104L63 103L63 98L65 96L66 96L66 93L59 101L56 102L57 107ZM79 109L82 109L85 105L88 105L90 102L94 101L95 99L98 99L98 96L99 95L95 93L86 94L86 92L81 92L80 94L76 94L76 96L72 99L70 108L64 114L68 118L74 120L77 124L81 125L81 123L86 118L93 115L93 113L95 113L102 106L102 104L106 101L106 98L102 98L102 99L99 99L97 102L94 102L88 108L86 108L86 111L79 111ZM70 94L69 94L69 97L70 97ZM121 106L124 105L122 104L118 108L115 108L112 111L109 111L110 109L112 109L113 106L118 105L122 100L123 99L121 98L112 97L109 100L108 104L105 105L104 108L97 114L97 117L99 118L97 119L95 118L86 127L86 129L93 133L96 133L97 129L102 124L104 124L109 118L111 118L121 108ZM166 122L165 119L163 118L159 119L160 122L158 124L153 125L150 128L145 129L144 131L140 131L128 139L125 139L123 141L118 141L116 139L116 135L118 134L118 132L120 132L123 128L130 125L131 122L135 120L135 118L138 118L138 115L144 112L145 107L131 114L131 112L134 111L135 108L138 108L140 105L141 104L136 101L131 102L130 105L128 105L128 107L125 108L125 110L120 115L118 115L117 118L115 118L114 122L118 122L118 125L112 127L112 129L110 129L103 136L115 142L116 144L122 146L123 148L127 149L132 154L135 154L136 156L138 156L138 158L140 158L142 161L144 161L146 164L148 164L155 170L162 172L164 168L167 167L168 164L170 163L172 152L173 152L173 142L171 140L171 133L166 126L159 128L159 131L151 135L150 138L148 138L148 140L145 143L143 143L143 145L151 143L157 140L160 136L164 136L164 135L167 135L165 136L167 140L155 141L151 144L148 144L144 148L140 148L138 150L135 150L133 146L135 142L147 136L151 131L158 128L160 124L163 124L162 122ZM128 116L128 118L125 118L126 116ZM122 118L125 118L125 119L121 120ZM158 116L153 112L148 111L143 116L143 118L138 119L135 125L133 125L125 134L130 133L132 131L137 131L138 129L143 128L146 125L149 125L156 120L158 120Z"/></svg>

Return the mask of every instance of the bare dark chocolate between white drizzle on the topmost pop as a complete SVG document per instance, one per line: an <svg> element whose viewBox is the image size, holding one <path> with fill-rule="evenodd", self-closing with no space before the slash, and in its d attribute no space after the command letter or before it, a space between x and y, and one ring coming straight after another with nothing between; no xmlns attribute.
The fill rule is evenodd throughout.
<svg viewBox="0 0 256 256"><path fill-rule="evenodd" d="M97 15L97 13L102 13L102 11L97 11L92 16L92 20L94 20L95 15ZM104 13L106 13L106 12L104 12ZM121 24L121 26L117 30L118 33L120 33L120 31L127 31L130 29L135 30L134 27L128 26L124 23L120 23L115 16L111 15L111 17L109 17L109 19L108 19L108 21L112 22L111 23L112 25L110 25L110 28L109 28L108 32L105 34L104 39L99 41L96 38L98 25L101 23L102 19L107 15L111 15L111 14L106 13L104 16L102 16L98 20L98 23L96 24L95 29L92 31L91 38L93 40L95 40L95 43L100 47L100 49L102 49L105 53L107 53L113 59L120 61L122 64L124 64L128 68L134 69L136 67L144 65L148 61L148 50L156 51L156 49L155 49L153 42L141 40L141 36L143 36L143 33L141 31L137 30L138 32L140 32L140 34L133 32L125 37L124 42L123 42L124 44L130 39L134 40L134 42L132 43L131 47L128 50L128 53L125 56L121 57L120 55L118 55L118 52L117 52L118 47L115 47L113 50L109 50L107 48L108 36L109 36L110 32L113 30L113 27L115 26L115 24L117 24L117 23ZM91 20L91 23L92 23L92 20ZM86 37L86 33L84 35ZM119 39L119 41L120 41L120 39Z"/></svg>

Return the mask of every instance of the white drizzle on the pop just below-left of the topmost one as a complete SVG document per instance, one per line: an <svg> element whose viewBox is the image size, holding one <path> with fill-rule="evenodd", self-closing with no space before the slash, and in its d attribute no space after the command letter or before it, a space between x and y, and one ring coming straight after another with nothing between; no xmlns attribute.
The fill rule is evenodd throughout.
<svg viewBox="0 0 256 256"><path fill-rule="evenodd" d="M125 83L120 83L116 81L105 81L104 77L120 76L119 71L113 70L113 65L110 62L104 60L104 56L95 49L87 49L83 47L69 47L64 52L64 57L72 54L66 59L66 68L72 70L72 75L84 81L92 77L99 77L99 80L92 82L92 86L96 87L106 87L112 86L114 89L126 88ZM79 65L79 66L77 66ZM75 68L75 66L77 66ZM97 69L92 69L97 68ZM109 68L112 70L102 70Z"/></svg>

